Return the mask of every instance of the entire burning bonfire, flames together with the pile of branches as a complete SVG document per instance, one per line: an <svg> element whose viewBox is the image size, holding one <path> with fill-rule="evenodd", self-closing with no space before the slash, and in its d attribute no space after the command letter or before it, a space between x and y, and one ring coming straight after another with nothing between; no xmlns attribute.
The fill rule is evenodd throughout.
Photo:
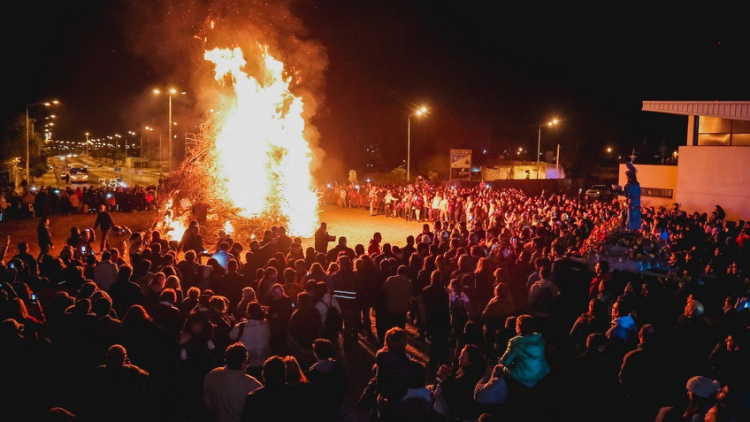
<svg viewBox="0 0 750 422"><path fill-rule="evenodd" d="M170 177L157 222L168 239L180 240L197 200L211 206L205 233L233 231L243 243L274 225L302 237L317 228L319 198L304 138L304 104L290 91L284 64L267 46L259 51L250 63L239 47L204 54L214 66L222 106L209 113Z"/></svg>

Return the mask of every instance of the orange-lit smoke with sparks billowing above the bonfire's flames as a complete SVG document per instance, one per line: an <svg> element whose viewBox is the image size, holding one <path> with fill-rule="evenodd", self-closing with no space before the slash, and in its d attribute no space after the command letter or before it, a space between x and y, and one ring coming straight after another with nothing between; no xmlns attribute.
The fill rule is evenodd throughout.
<svg viewBox="0 0 750 422"><path fill-rule="evenodd" d="M322 163L319 133L310 124L324 101L328 59L322 44L310 39L302 20L293 13L291 0L135 0L119 4L123 35L133 53L156 73L154 82L171 83L188 91L187 109L180 113L197 125L206 111L219 108L221 95L213 79L205 50L241 47L245 57L259 57L260 45L284 62L292 77L290 89L305 104L305 138L313 150L313 169ZM253 74L252 60L246 71ZM133 110L135 121L144 121L146 110ZM176 120L176 118L175 118Z"/></svg>

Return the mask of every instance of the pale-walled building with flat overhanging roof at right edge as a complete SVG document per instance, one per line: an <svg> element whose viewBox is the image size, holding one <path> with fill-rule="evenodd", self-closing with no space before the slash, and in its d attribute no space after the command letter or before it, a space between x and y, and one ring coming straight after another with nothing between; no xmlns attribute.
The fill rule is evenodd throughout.
<svg viewBox="0 0 750 422"><path fill-rule="evenodd" d="M750 101L644 101L642 109L687 117L676 175L673 166L639 166L636 160L638 180L650 194L643 189L643 203L676 202L688 212L721 205L727 219L750 219Z"/></svg>

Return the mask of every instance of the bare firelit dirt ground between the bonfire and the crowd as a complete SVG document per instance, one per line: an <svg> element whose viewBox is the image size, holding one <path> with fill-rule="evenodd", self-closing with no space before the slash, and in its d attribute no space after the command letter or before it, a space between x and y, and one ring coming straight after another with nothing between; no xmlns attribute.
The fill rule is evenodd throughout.
<svg viewBox="0 0 750 422"><path fill-rule="evenodd" d="M134 213L112 213L115 224L127 226L132 231L146 230L156 220L156 212L142 211ZM93 227L96 221L96 214L69 215L50 217L50 229L52 231L52 242L55 247L52 249L53 255L60 251L65 245L65 240L70 236L70 228L77 226L83 230L87 227ZM383 235L383 243L403 246L406 244L406 237L416 235L421 231L421 224L416 222L407 223L401 218L385 218L384 216L370 217L366 209L348 208L342 209L336 206L326 206L320 214L320 221L328 223L328 233L332 236L346 236L347 243L351 248L358 243L367 247L368 242L372 239L373 233L379 231ZM19 242L26 242L31 246L32 255L39 254L37 244L36 227L39 219L34 220L9 220L0 222L0 239L10 236L10 248L7 256L13 256L18 253L17 245ZM97 236L99 233L97 233ZM206 239L207 242L212 239ZM312 239L304 239L305 247L313 246ZM333 247L336 243L331 243Z"/></svg>

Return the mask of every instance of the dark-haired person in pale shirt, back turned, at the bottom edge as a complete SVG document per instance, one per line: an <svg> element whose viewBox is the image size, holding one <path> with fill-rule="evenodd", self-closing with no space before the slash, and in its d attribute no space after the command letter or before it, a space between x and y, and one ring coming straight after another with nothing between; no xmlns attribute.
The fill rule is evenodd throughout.
<svg viewBox="0 0 750 422"><path fill-rule="evenodd" d="M226 366L206 374L203 381L203 403L214 422L240 422L245 399L262 387L257 379L247 375L247 349L235 343L226 350Z"/></svg>

